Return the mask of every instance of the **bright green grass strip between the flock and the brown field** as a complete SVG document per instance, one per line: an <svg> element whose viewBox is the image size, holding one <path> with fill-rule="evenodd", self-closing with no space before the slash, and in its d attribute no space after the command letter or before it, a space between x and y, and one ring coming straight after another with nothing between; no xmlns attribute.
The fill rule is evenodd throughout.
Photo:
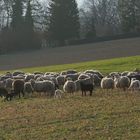
<svg viewBox="0 0 140 140"><path fill-rule="evenodd" d="M103 73L109 73L112 71L133 70L134 68L140 68L140 56L123 57L123 58L115 58L115 59L99 60L99 61L89 61L89 62L74 63L74 64L46 66L46 67L24 68L21 70L25 72L34 72L34 71L60 72L68 69L75 69L77 71L95 69ZM4 72L5 71L1 71L1 73Z"/></svg>

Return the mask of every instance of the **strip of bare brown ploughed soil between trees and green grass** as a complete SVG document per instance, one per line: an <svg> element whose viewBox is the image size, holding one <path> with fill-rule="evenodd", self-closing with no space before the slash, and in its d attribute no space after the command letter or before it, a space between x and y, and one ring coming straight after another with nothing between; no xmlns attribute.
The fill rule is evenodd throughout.
<svg viewBox="0 0 140 140"><path fill-rule="evenodd" d="M0 55L0 70L140 55L140 38Z"/></svg>

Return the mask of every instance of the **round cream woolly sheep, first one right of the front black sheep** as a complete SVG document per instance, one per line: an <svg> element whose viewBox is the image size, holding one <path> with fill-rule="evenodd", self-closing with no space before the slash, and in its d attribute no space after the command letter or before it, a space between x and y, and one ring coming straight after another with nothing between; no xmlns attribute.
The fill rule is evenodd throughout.
<svg viewBox="0 0 140 140"><path fill-rule="evenodd" d="M101 80L101 88L102 89L113 89L114 88L114 80L112 78L104 77Z"/></svg>

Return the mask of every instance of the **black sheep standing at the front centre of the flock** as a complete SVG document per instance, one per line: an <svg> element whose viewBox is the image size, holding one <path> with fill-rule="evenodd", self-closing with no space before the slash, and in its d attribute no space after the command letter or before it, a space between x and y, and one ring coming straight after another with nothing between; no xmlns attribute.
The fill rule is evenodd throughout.
<svg viewBox="0 0 140 140"><path fill-rule="evenodd" d="M92 96L92 92L94 90L93 81L91 79L88 79L88 78L80 80L80 89L81 89L81 92L82 92L82 96L83 96L83 93L86 96L86 91L89 91L90 96Z"/></svg>

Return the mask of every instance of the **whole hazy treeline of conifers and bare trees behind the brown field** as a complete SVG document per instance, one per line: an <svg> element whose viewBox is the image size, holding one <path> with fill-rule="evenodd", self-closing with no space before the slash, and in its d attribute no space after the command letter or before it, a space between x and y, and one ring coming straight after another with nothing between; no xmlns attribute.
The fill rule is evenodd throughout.
<svg viewBox="0 0 140 140"><path fill-rule="evenodd" d="M0 0L0 53L139 32L139 0Z"/></svg>

